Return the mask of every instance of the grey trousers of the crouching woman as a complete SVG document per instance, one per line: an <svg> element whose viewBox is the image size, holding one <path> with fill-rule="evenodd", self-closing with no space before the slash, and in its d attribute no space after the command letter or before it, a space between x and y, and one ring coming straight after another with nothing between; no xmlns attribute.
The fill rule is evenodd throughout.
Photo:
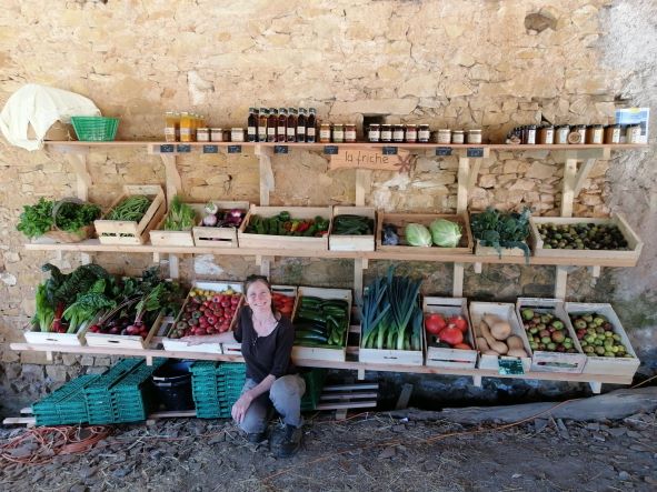
<svg viewBox="0 0 657 492"><path fill-rule="evenodd" d="M247 379L242 393L257 386L252 379ZM306 381L297 374L288 374L277 379L269 393L263 393L251 402L245 420L239 426L247 433L265 432L269 421L271 405L286 424L301 426L301 396L306 392Z"/></svg>

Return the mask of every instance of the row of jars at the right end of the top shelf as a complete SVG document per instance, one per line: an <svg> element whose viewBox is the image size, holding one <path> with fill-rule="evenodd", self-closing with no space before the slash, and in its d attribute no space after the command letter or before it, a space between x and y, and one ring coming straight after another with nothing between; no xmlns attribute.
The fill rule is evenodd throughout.
<svg viewBox="0 0 657 492"><path fill-rule="evenodd" d="M526 124L516 127L507 137L507 143L566 144L566 143L637 143L641 134L639 124L623 128L620 124Z"/></svg>

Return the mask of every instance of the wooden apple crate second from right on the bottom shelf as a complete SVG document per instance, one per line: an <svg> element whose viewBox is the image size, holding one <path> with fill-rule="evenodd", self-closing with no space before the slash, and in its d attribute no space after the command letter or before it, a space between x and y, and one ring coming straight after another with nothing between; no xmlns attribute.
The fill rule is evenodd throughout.
<svg viewBox="0 0 657 492"><path fill-rule="evenodd" d="M573 331L570 320L564 309L564 301L558 299L518 298L518 301L516 302L516 315L519 323L522 323L522 315L520 313L522 308L530 308L538 313L549 312L555 314L566 325L568 337L573 339L573 345L578 352L563 353L535 350L531 354L531 371L568 372L573 374L581 373L586 364L586 355L581 351L581 347ZM520 324L520 327L522 328L522 331L525 331L525 327L522 327L522 324Z"/></svg>

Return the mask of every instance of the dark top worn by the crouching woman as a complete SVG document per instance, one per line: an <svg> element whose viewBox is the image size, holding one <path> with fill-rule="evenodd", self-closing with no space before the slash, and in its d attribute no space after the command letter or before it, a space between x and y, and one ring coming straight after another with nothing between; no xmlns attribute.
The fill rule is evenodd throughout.
<svg viewBox="0 0 657 492"><path fill-rule="evenodd" d="M281 315L271 333L259 337L251 315L251 308L242 307L233 333L235 340L241 343L247 378L259 383L269 374L277 379L296 374L297 369L290 360L295 343L295 328L290 320Z"/></svg>

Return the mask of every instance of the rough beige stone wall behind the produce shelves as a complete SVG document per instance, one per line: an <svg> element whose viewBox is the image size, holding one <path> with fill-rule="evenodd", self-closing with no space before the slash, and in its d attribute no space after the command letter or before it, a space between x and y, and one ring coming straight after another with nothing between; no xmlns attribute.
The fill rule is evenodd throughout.
<svg viewBox="0 0 657 492"><path fill-rule="evenodd" d="M649 106L657 98L650 1L68 1L46 10L36 0L9 0L3 7L0 103L27 82L68 89L121 117L119 139L160 137L166 110L195 110L212 124L243 125L255 104L313 106L320 118L342 122L381 114L389 122L482 128L485 138L500 141L514 125L539 122L541 116L555 123L605 123L613 120L615 101ZM22 394L24 403L31 395L23 390L36 382L70 378L107 358L64 357L66 370L56 369L59 359L43 369L36 365L44 363L41 354L8 350L6 343L21 339L33 311L42 279L38 265L48 260L72 268L79 258L26 252L14 230L23 204L73 193L64 158L17 150L3 140L0 145L0 388ZM577 215L624 212L646 242L639 265L604 269L595 285L586 269L574 269L568 289L573 299L613 301L646 350L656 345L654 151L653 144L647 152L598 163L575 204ZM179 161L187 198L258 201L252 154ZM89 167L90 198L103 205L125 183L165 180L159 159L143 150L93 150ZM456 168L454 158L422 157L410 177L374 172L367 201L397 211L454 210ZM354 171L328 172L319 153L277 158L273 171L272 204L355 200ZM549 155L491 153L470 207L527 204L535 213L557 214L561 175L563 165ZM96 261L137 273L150 258L99 254ZM372 262L366 279L387 264ZM421 272L426 292L449 293L449 265L401 268ZM208 273L240 279L252 271L253 264L236 258L181 264L186 279ZM276 282L317 285L350 287L351 275L349 261L287 259L272 270ZM486 267L481 275L468 268L465 294L549 295L553 277L547 268Z"/></svg>

